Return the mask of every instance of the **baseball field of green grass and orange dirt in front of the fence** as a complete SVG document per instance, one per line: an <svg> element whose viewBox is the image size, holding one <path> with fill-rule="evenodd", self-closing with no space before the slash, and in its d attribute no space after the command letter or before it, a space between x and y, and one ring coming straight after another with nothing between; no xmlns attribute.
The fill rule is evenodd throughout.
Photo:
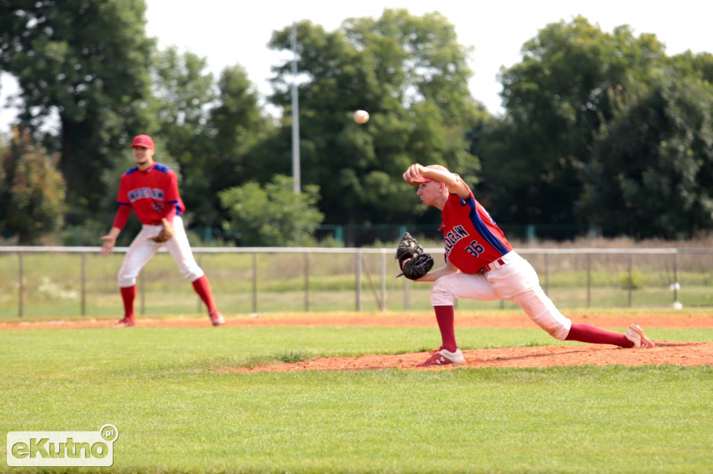
<svg viewBox="0 0 713 474"><path fill-rule="evenodd" d="M709 473L713 310L581 310L655 349L460 311L466 366L416 369L429 311L0 322L5 433L98 431L113 465L8 473Z"/></svg>

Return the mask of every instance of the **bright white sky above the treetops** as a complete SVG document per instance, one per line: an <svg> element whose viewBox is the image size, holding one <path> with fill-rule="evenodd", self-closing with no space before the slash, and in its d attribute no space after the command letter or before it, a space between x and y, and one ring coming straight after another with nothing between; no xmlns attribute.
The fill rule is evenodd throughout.
<svg viewBox="0 0 713 474"><path fill-rule="evenodd" d="M182 53L207 58L216 78L222 68L240 64L262 96L272 92L267 83L270 66L289 58L267 49L272 31L302 19L334 31L345 19L378 18L386 8L407 9L417 16L438 11L445 16L455 26L458 42L474 48L469 61L475 73L471 95L491 113L501 111L501 86L496 81L501 66L518 63L523 43L538 30L578 14L607 33L623 24L631 26L635 36L653 33L669 55L713 52L713 3L699 0L147 0L147 5L147 34L158 38L160 48L178 46ZM0 106L15 87L4 75ZM12 118L14 112L0 110L0 133L8 131Z"/></svg>

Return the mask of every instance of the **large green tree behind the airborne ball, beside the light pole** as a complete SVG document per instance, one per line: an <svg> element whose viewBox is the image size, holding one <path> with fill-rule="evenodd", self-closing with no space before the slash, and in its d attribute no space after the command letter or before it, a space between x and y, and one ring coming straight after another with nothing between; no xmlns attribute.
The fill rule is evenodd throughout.
<svg viewBox="0 0 713 474"><path fill-rule="evenodd" d="M289 51L290 34L276 31L270 48ZM478 161L468 153L466 130L483 110L468 93L468 48L443 16L386 9L379 19L349 19L334 32L302 21L297 54L301 176L319 185L325 222L403 223L420 211L401 180L414 162L441 163L475 179ZM286 150L290 68L274 68L272 96L285 111ZM369 123L354 123L357 109L371 113ZM355 243L349 235L347 243Z"/></svg>

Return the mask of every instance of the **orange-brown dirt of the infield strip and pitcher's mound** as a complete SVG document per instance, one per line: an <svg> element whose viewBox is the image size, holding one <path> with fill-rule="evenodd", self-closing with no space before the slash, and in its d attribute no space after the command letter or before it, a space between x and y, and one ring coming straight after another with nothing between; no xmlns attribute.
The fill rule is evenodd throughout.
<svg viewBox="0 0 713 474"><path fill-rule="evenodd" d="M576 323L594 324L603 328L625 328L637 321L645 329L687 329L713 328L713 316L687 313L685 311L647 316L601 316L580 314L570 316ZM0 324L0 329L61 329L77 327L106 327L113 321L101 319L71 321L16 321ZM148 319L139 318L138 327L208 326L206 319ZM391 327L433 327L436 322L430 314L289 314L268 316L226 316L226 326L391 326ZM524 314L505 313L487 316L476 314L456 314L456 327L531 328L534 327ZM116 329L130 331L131 328ZM215 329L220 331L220 328ZM556 342L553 340L553 342ZM501 349L476 349L463 351L469 368L481 367L548 367L590 364L605 366L620 364L627 366L662 365L703 366L713 365L713 343L692 341L655 341L653 349L622 349L601 344L578 346L538 346ZM236 372L255 371L303 371L303 370L369 370L369 369L416 369L416 364L428 359L427 352L396 355L364 355L360 357L329 357L292 364L274 364L252 368L226 369ZM453 366L433 367L419 370L452 369Z"/></svg>

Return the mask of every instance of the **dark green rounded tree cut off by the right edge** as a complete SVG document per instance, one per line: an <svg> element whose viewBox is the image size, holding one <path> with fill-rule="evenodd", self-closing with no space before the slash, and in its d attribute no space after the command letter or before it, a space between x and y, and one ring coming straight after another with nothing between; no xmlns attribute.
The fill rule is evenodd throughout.
<svg viewBox="0 0 713 474"><path fill-rule="evenodd" d="M626 92L625 92L626 91ZM609 91L578 210L604 235L690 238L713 227L713 87L661 75Z"/></svg>

